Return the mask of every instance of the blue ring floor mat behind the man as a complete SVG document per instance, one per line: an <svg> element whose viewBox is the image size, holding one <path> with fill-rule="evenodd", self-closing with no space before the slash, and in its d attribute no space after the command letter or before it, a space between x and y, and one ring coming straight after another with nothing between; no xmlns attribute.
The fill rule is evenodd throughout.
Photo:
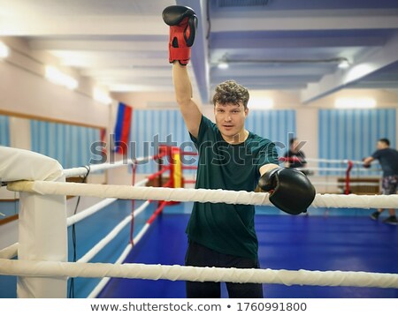
<svg viewBox="0 0 398 316"><path fill-rule="evenodd" d="M126 262L183 265L188 214L163 214ZM398 273L398 227L365 216L256 215L262 268ZM398 289L264 284L264 296L398 297ZM227 297L225 287L222 296ZM185 297L185 282L112 279L99 297Z"/></svg>

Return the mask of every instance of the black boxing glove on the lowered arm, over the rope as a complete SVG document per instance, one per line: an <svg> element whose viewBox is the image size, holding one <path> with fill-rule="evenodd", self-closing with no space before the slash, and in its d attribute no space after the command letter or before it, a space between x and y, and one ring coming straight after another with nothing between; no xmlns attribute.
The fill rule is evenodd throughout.
<svg viewBox="0 0 398 316"><path fill-rule="evenodd" d="M258 186L270 192L270 201L275 207L288 214L307 212L315 199L315 188L301 171L289 168L276 168L264 173Z"/></svg>

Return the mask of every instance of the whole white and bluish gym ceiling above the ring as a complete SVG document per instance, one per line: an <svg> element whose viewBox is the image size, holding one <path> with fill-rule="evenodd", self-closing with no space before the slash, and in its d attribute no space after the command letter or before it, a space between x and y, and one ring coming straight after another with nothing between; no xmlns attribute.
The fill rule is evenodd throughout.
<svg viewBox="0 0 398 316"><path fill-rule="evenodd" d="M111 92L172 91L172 0L0 0L0 36ZM307 104L345 87L398 91L397 0L177 1L197 13L190 69L202 102L221 81L298 94ZM339 68L342 60L347 69ZM220 62L227 69L218 68Z"/></svg>

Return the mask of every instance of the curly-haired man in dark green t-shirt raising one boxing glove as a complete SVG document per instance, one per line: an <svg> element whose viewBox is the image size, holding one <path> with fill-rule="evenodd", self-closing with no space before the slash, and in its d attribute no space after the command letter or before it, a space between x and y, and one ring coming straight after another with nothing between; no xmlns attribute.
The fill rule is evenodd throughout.
<svg viewBox="0 0 398 316"><path fill-rule="evenodd" d="M233 80L213 97L216 124L192 100L186 65L195 39L195 12L172 5L163 12L170 27L169 54L180 112L198 150L196 188L272 192L274 205L290 214L306 211L315 190L300 171L279 168L275 145L245 129L249 92ZM255 207L195 203L187 234L186 265L258 268ZM229 297L263 297L262 284L227 282ZM187 297L220 297L218 282L187 282Z"/></svg>

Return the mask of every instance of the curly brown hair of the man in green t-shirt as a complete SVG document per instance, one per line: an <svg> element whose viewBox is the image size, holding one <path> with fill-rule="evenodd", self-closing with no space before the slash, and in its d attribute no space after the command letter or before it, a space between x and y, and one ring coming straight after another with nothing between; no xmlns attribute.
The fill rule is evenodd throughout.
<svg viewBox="0 0 398 316"><path fill-rule="evenodd" d="M226 80L216 87L216 93L213 96L213 104L239 104L243 103L244 109L248 109L249 91L247 88L236 83L234 80Z"/></svg>

